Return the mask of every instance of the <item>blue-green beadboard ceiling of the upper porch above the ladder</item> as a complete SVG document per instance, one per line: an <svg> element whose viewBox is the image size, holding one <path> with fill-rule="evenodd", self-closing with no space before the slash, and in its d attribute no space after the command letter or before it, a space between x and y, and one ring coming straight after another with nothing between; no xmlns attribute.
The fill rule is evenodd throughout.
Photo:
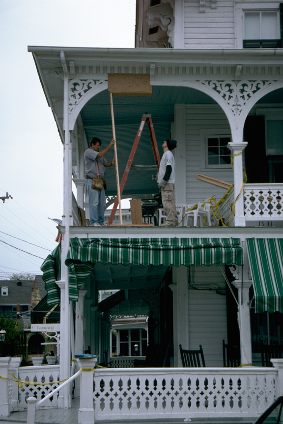
<svg viewBox="0 0 283 424"><path fill-rule="evenodd" d="M151 97L113 97L115 114L115 131L119 159L119 174L122 178L131 148L138 132L143 113L150 113L154 131L162 156L162 143L171 134L171 123L174 122L175 104L215 104L216 102L198 90L186 87L153 86ZM94 136L100 138L104 148L112 139L112 123L109 91L105 90L93 97L81 112L87 142ZM173 137L173 133L171 134ZM113 159L113 153L107 155ZM155 165L147 125L135 154L133 165ZM152 175L156 170L132 168L123 194L155 194L158 192L156 181ZM116 195L116 175L114 169L107 169L107 194Z"/></svg>

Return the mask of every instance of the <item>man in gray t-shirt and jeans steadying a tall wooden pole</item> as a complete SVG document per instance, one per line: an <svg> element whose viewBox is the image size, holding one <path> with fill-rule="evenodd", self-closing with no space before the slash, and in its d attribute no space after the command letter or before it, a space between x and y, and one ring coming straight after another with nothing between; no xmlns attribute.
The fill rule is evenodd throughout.
<svg viewBox="0 0 283 424"><path fill-rule="evenodd" d="M91 188L92 178L104 178L105 168L115 164L115 157L111 162L107 162L105 159L105 155L109 152L114 144L115 140L113 139L109 146L100 152L99 150L101 148L101 140L97 137L93 137L90 140L89 149L86 149L85 151L85 186L88 192L89 218L90 225L94 225L95 227L105 226L104 211L106 200L104 187L101 191L93 190Z"/></svg>

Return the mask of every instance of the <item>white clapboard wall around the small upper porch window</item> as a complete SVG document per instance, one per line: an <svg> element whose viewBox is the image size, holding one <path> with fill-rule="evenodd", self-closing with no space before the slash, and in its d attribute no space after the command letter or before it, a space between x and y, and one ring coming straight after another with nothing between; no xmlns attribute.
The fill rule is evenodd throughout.
<svg viewBox="0 0 283 424"><path fill-rule="evenodd" d="M230 127L222 108L218 105L186 105L186 196L187 203L197 203L208 197L220 200L225 190L197 180L198 174L218 178L233 184L232 168L205 168L205 146L203 130L212 132Z"/></svg>

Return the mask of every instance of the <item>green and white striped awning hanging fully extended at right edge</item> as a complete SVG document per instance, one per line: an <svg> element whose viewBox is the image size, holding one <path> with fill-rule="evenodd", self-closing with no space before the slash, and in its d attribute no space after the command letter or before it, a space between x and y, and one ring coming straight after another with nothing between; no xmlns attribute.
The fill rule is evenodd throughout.
<svg viewBox="0 0 283 424"><path fill-rule="evenodd" d="M283 238L248 238L255 312L283 313Z"/></svg>

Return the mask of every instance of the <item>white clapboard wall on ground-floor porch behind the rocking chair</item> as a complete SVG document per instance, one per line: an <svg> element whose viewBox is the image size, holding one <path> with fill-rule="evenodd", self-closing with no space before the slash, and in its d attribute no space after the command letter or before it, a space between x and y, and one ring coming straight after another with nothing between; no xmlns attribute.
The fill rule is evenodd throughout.
<svg viewBox="0 0 283 424"><path fill-rule="evenodd" d="M225 287L218 266L196 266L195 285ZM202 345L206 367L223 367L222 341L227 343L226 296L208 290L189 290L189 346Z"/></svg>

